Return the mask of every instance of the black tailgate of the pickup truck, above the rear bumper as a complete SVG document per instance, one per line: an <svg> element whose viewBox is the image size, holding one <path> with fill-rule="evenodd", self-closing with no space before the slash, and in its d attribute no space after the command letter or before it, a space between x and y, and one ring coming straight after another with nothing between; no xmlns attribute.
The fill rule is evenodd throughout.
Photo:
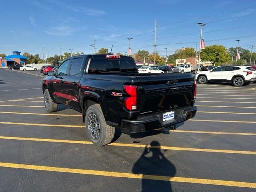
<svg viewBox="0 0 256 192"><path fill-rule="evenodd" d="M140 115L194 104L193 74L137 76Z"/></svg>

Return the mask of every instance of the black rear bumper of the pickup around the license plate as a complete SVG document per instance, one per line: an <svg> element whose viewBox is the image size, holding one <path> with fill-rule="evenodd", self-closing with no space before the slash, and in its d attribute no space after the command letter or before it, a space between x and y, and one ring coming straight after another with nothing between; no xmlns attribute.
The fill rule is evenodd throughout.
<svg viewBox="0 0 256 192"><path fill-rule="evenodd" d="M163 122L163 114L168 111L174 111L174 119L169 120L168 122ZM187 106L168 111L153 115L141 116L134 120L123 119L121 122L121 131L123 133L130 134L176 125L180 122L193 118L196 114L197 107Z"/></svg>

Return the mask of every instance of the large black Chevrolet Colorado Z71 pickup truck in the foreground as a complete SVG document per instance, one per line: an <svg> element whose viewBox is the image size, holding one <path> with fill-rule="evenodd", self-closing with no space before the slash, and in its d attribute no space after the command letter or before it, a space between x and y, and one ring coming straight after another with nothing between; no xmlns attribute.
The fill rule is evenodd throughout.
<svg viewBox="0 0 256 192"><path fill-rule="evenodd" d="M82 113L86 132L98 146L110 143L115 128L130 134L176 124L195 116L192 74L139 74L128 56L98 54L67 58L43 84L44 104L64 104Z"/></svg>

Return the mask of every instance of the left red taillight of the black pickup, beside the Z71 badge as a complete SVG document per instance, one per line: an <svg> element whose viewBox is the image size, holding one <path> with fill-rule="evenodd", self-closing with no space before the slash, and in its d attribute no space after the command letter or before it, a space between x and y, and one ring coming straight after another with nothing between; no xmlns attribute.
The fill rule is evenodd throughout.
<svg viewBox="0 0 256 192"><path fill-rule="evenodd" d="M124 107L128 110L137 109L137 87L134 85L124 85L124 91L128 96L124 99Z"/></svg>

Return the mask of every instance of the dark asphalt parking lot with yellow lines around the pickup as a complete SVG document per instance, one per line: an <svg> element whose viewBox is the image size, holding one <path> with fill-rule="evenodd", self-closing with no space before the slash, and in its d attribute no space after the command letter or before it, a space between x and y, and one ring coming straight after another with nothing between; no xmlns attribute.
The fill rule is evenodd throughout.
<svg viewBox="0 0 256 192"><path fill-rule="evenodd" d="M0 69L0 192L256 190L256 84L198 85L175 131L91 144L78 112L47 113L43 75Z"/></svg>

